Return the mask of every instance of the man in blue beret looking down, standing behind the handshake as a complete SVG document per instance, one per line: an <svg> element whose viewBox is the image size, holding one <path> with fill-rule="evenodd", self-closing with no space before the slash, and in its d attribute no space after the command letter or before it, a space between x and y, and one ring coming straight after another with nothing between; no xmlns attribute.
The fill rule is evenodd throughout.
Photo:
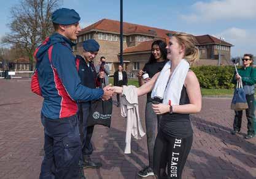
<svg viewBox="0 0 256 179"><path fill-rule="evenodd" d="M76 64L79 72L81 82L84 86L92 89L99 86L99 80L93 59L97 56L99 51L99 44L94 39L89 39L83 42L82 56L76 56ZM104 78L104 76L99 76ZM91 145L91 137L93 135L94 126L87 126L90 111L90 102L79 103L79 122L80 134L82 134L82 153L85 168L99 168L101 163L95 163L91 160L90 155L93 153L93 145Z"/></svg>

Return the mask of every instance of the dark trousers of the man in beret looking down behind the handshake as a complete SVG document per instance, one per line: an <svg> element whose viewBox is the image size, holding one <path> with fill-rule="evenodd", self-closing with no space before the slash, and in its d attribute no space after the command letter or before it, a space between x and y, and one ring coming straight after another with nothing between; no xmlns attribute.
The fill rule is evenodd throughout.
<svg viewBox="0 0 256 179"><path fill-rule="evenodd" d="M93 145L91 144L91 137L93 136L94 126L87 126L90 111L90 103L79 103L79 131L82 141L83 155L91 155L93 153Z"/></svg>

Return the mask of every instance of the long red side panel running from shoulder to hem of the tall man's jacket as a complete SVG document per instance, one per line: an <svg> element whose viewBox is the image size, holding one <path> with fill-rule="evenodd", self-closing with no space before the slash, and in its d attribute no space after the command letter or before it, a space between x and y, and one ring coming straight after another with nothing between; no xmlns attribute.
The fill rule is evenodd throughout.
<svg viewBox="0 0 256 179"><path fill-rule="evenodd" d="M77 103L76 101L72 100L71 97L69 96L68 92L66 91L65 87L63 86L60 80L60 77L58 76L56 68L54 68L52 65L52 48L53 46L50 46L50 48L48 49L48 57L53 70L55 87L56 87L56 90L58 91L58 94L61 97L60 118L69 117L77 113L77 109L78 109Z"/></svg>

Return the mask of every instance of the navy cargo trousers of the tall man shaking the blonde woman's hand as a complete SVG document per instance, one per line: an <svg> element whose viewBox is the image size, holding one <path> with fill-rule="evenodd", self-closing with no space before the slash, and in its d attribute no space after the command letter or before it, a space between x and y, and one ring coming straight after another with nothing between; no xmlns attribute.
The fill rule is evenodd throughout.
<svg viewBox="0 0 256 179"><path fill-rule="evenodd" d="M77 115L49 119L41 115L44 125L44 159L40 179L79 178L82 160Z"/></svg>

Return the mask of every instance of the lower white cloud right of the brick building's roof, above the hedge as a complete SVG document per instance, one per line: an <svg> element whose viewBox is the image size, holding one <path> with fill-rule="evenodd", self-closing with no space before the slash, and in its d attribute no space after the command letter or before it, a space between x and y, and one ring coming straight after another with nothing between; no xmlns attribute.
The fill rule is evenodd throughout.
<svg viewBox="0 0 256 179"><path fill-rule="evenodd" d="M234 45L231 47L231 56L242 56L244 53L256 55L256 34L255 29L239 29L231 27L225 31L216 34L217 37L224 37L225 41Z"/></svg>

